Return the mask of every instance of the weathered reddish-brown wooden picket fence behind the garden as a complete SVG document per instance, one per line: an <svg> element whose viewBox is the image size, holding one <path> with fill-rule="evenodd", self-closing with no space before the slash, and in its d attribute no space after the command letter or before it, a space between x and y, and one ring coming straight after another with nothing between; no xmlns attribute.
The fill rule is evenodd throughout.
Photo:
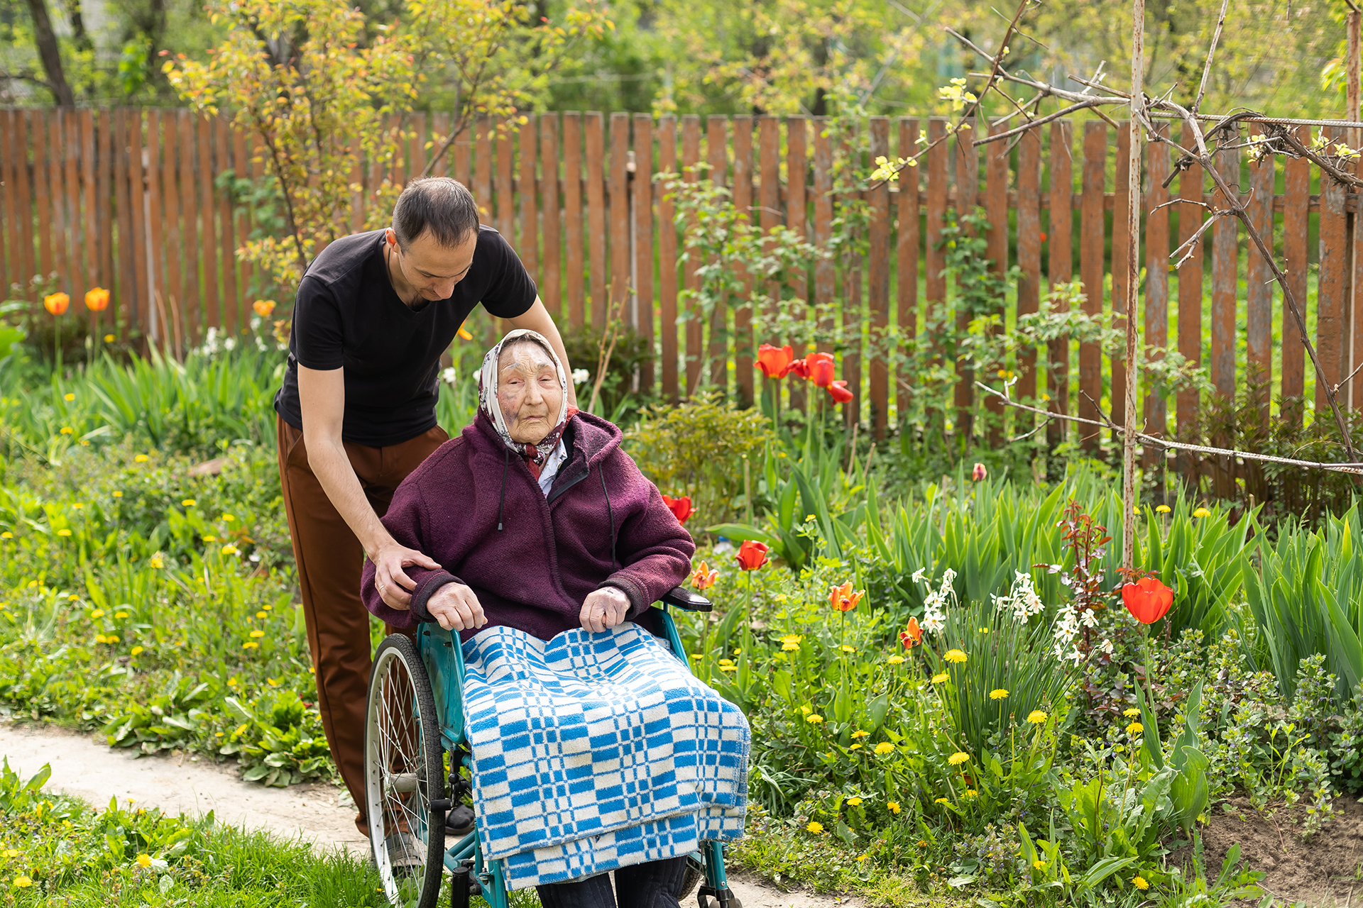
<svg viewBox="0 0 1363 908"><path fill-rule="evenodd" d="M356 162L357 181L387 176L401 184L420 173L432 139L446 135L448 123L447 114L408 118L393 159ZM871 117L864 124L866 170L875 155L917 151L924 125L931 140L946 135L947 120L940 117L925 123ZM988 129L987 123L976 124L975 135ZM866 260L845 271L822 261L806 289L810 299L834 301L851 331L838 363L857 392L849 417L870 418L883 434L897 396L909 392L875 357L863 374L870 351L864 332L895 324L913 335L923 306L947 297L939 236L949 210L983 207L994 267L1018 265L1009 323L1037 309L1044 286L1071 280L1075 261L1086 310L1120 323L1126 193L1112 189L1127 182L1130 132L1097 120L1084 123L1082 135L1074 132L1070 121L1055 121L1015 142L980 148L953 139L935 146L921 166L906 169L897 185L866 193L871 211ZM705 377L726 385L732 369L733 392L751 402L751 348L781 339L743 342L741 312L718 316L731 319L728 331L699 319L679 325L679 294L695 286L694 263L679 264L684 249L673 203L654 177L707 163L705 178L729 187L735 203L750 208L763 229L785 225L825 244L838 207L831 192L836 151L818 117L710 116L702 123L699 116L553 113L529 116L502 131L480 123L474 135L453 146L436 173L469 185L485 221L506 234L551 312L567 323L601 325L613 310L608 305L622 302L608 294L624 295L626 320L658 351L657 362L638 376L641 391L676 400ZM1214 226L1199 253L1175 272L1178 298L1171 298L1169 250L1197 230L1205 206L1217 200L1198 167L1163 188L1172 166L1167 146L1149 144L1145 161L1144 343L1165 346L1174 324L1174 346L1204 362L1209 320L1205 365L1217 393L1234 396L1250 374L1285 399L1317 389L1281 294L1257 253L1246 250L1234 221ZM1352 229L1358 196L1321 181L1304 161L1249 165L1227 152L1221 166L1249 197L1255 223L1274 237L1303 306L1310 283L1307 317L1321 363L1332 383L1344 381L1363 363L1363 294L1355 293L1363 286L1363 230ZM210 327L241 331L252 299L288 297L289 290L263 286L234 255L252 230L263 227L259 212L233 204L218 178L229 169L237 176L263 173L251 137L221 118L187 110L0 110L5 285L56 272L76 308L87 289L105 286L114 304L99 329L114 323L112 329L138 332L151 343L183 348ZM1164 206L1171 193L1182 201ZM1054 216L1058 211L1066 216ZM1204 298L1208 259L1212 280ZM1308 282L1313 268L1317 278ZM1024 357L1015 393L1045 393L1052 410L1088 417L1103 407L1120 423L1122 396L1109 388L1123 387L1123 363L1097 344L1073 347L1060 344L1041 362L1073 362L1074 369L1045 369L1035 357ZM973 393L960 383L957 406L969 406ZM1323 396L1315 398L1321 407ZM1341 399L1363 406L1363 378L1345 381ZM1178 423L1197 422L1202 403L1197 393L1178 396ZM1159 399L1146 400L1145 419L1150 432L1172 429ZM1051 432L1058 441L1062 429L1052 425ZM1084 430L1081 438L1097 444L1093 432Z"/></svg>

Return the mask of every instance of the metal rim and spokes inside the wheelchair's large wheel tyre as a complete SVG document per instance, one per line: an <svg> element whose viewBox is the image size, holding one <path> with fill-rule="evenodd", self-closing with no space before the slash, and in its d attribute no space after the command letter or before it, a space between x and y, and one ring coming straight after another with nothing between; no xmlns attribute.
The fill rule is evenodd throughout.
<svg viewBox="0 0 1363 908"><path fill-rule="evenodd" d="M427 875L425 739L410 667L394 648L373 667L365 747L375 864L394 905L416 904Z"/></svg>

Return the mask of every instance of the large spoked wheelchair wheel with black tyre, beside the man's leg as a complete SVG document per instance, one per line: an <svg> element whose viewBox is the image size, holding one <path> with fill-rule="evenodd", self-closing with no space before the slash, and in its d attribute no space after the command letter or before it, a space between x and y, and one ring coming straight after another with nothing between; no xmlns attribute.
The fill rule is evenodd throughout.
<svg viewBox="0 0 1363 908"><path fill-rule="evenodd" d="M391 905L433 908L444 871L444 760L431 679L412 640L386 638L373 656L364 731L365 813L373 863Z"/></svg>

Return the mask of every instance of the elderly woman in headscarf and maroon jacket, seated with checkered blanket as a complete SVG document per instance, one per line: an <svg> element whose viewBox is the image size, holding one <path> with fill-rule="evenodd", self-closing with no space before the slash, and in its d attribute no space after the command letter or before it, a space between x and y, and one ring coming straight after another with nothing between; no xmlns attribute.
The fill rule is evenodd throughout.
<svg viewBox="0 0 1363 908"><path fill-rule="evenodd" d="M641 630L695 545L620 430L566 392L540 335L488 351L473 425L383 520L442 569L406 569L403 613L367 564L364 600L390 625L438 622L463 641L478 830L507 856L510 888L537 885L545 908L611 908L602 871L616 870L622 905L676 908L684 855L741 834L747 724ZM609 717L622 701L632 715ZM533 741L517 736L527 727Z"/></svg>

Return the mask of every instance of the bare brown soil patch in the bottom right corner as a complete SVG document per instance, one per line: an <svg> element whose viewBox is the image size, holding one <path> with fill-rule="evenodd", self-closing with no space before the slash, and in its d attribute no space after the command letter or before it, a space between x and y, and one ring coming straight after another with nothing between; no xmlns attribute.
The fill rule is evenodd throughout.
<svg viewBox="0 0 1363 908"><path fill-rule="evenodd" d="M1302 821L1306 806L1270 806L1255 811L1247 798L1227 802L1231 810L1216 806L1210 822L1202 828L1204 862L1208 877L1221 869L1232 845L1240 845L1240 858L1250 870L1265 874L1259 886L1277 904L1311 905L1313 908L1363 907L1363 803L1356 798L1337 798L1334 818L1310 839L1303 840ZM1184 845L1169 856L1174 866L1190 866L1193 849ZM1234 905L1255 905L1238 901Z"/></svg>

